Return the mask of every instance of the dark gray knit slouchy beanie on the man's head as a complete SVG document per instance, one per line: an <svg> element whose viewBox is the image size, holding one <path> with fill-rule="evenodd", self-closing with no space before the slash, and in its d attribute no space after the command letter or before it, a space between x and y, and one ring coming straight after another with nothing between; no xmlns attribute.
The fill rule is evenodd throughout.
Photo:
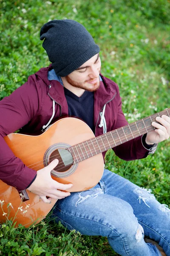
<svg viewBox="0 0 170 256"><path fill-rule="evenodd" d="M90 33L75 20L51 20L40 30L42 47L57 76L67 76L99 53Z"/></svg>

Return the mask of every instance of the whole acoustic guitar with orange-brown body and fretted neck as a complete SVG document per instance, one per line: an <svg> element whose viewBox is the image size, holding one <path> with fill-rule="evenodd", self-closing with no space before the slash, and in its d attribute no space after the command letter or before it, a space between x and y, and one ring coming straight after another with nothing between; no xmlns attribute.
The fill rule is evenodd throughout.
<svg viewBox="0 0 170 256"><path fill-rule="evenodd" d="M69 192L84 191L94 187L102 177L102 152L153 130L151 123L162 115L170 116L170 108L98 137L82 120L67 117L54 122L40 135L11 133L4 140L16 157L36 171L57 158L59 163L51 171L51 177L59 183L73 183ZM1 223L13 218L16 226L29 227L45 218L56 201L45 204L28 189L19 193L0 180Z"/></svg>

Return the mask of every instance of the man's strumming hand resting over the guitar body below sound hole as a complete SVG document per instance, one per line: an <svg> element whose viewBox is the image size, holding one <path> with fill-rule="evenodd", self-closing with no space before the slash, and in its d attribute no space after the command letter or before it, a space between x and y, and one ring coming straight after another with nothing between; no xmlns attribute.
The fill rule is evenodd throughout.
<svg viewBox="0 0 170 256"><path fill-rule="evenodd" d="M60 190L70 189L73 184L62 184L51 178L51 170L58 164L58 160L53 160L48 166L37 171L37 177L27 188L32 193L39 195L44 203L51 203L51 198L62 199L70 195L70 192ZM46 196L48 198L46 198Z"/></svg>

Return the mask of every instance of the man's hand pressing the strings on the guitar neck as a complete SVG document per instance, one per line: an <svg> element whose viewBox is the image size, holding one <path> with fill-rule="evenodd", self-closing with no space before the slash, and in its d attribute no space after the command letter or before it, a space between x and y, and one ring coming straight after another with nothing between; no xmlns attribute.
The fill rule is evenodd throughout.
<svg viewBox="0 0 170 256"><path fill-rule="evenodd" d="M165 115L158 116L156 117L156 121L159 123L152 122L153 127L156 129L147 133L145 141L148 145L159 143L170 137L170 117Z"/></svg>

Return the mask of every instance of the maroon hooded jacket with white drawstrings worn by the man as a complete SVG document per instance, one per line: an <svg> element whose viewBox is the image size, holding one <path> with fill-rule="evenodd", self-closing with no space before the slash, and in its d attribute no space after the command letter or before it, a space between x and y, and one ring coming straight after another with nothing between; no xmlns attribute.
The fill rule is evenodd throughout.
<svg viewBox="0 0 170 256"><path fill-rule="evenodd" d="M3 137L20 128L22 128L21 133L40 131L52 116L53 100L57 103L53 121L60 116L68 115L68 104L63 86L56 80L48 81L48 71L51 69L51 65L41 68L37 73L29 76L25 84L0 101L0 179L18 190L25 189L31 183L36 171L29 169L14 156ZM101 118L99 113L106 103L107 131L127 125L122 113L118 86L110 79L102 75L101 77L103 81L94 93L96 136L103 134L103 128L99 127ZM142 145L141 137L119 145L113 150L124 160L144 158L149 152Z"/></svg>

